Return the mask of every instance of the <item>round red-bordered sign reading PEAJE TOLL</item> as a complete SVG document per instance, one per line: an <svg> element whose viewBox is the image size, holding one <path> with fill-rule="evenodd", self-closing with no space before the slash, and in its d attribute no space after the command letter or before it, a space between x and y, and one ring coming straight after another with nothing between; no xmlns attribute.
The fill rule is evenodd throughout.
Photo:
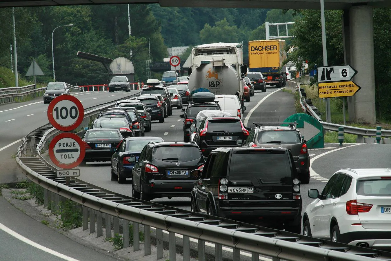
<svg viewBox="0 0 391 261"><path fill-rule="evenodd" d="M49 144L52 162L63 169L72 169L84 159L86 149L83 140L74 133L60 133Z"/></svg>

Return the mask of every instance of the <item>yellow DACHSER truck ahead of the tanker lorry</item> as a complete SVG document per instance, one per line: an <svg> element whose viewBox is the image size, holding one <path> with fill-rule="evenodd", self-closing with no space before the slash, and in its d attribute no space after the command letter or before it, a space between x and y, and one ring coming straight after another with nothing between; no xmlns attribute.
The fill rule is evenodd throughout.
<svg viewBox="0 0 391 261"><path fill-rule="evenodd" d="M249 74L261 72L268 85L285 86L287 69L284 40L257 40L248 42Z"/></svg>

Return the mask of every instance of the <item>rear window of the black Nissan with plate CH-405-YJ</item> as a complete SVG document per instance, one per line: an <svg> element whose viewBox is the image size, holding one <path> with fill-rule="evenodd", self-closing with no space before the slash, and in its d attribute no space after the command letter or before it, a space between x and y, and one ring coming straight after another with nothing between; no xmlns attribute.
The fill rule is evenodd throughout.
<svg viewBox="0 0 391 261"><path fill-rule="evenodd" d="M166 161L191 161L202 157L198 147L167 146L154 149L153 157Z"/></svg>

